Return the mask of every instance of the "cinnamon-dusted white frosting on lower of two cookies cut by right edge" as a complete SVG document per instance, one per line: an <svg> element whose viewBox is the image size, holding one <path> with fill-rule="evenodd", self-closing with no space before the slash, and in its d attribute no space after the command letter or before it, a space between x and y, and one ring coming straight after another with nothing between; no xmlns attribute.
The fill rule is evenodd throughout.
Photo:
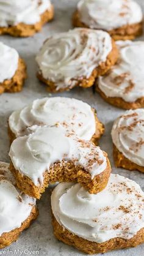
<svg viewBox="0 0 144 256"><path fill-rule="evenodd" d="M112 140L123 155L144 167L144 110L129 110L112 127Z"/></svg>

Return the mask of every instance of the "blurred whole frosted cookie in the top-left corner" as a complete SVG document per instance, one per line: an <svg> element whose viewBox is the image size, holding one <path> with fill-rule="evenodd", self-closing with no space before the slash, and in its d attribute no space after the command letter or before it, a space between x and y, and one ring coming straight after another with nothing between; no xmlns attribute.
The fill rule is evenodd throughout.
<svg viewBox="0 0 144 256"><path fill-rule="evenodd" d="M0 0L0 34L32 36L53 16L49 0Z"/></svg>

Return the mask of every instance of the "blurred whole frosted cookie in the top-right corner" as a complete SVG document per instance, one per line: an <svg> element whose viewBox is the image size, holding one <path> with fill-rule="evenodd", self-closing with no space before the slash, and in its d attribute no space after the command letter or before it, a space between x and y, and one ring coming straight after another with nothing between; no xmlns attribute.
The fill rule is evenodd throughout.
<svg viewBox="0 0 144 256"><path fill-rule="evenodd" d="M132 40L142 34L142 9L133 0L81 0L73 15L76 27L103 29L114 40Z"/></svg>

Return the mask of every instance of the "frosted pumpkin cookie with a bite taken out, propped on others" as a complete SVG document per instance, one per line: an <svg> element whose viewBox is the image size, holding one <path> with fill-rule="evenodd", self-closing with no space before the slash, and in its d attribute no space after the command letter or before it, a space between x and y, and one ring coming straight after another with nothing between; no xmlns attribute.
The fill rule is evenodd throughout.
<svg viewBox="0 0 144 256"><path fill-rule="evenodd" d="M16 138L9 156L16 185L35 198L56 181L77 181L97 193L106 187L111 171L106 152L62 126L38 127L33 134Z"/></svg>

